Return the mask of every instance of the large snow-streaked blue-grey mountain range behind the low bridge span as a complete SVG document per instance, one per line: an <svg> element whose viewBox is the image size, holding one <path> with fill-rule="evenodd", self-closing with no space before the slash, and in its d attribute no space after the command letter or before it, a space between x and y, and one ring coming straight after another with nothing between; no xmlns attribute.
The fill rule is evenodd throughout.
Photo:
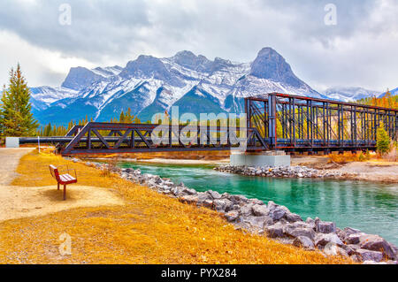
<svg viewBox="0 0 398 282"><path fill-rule="evenodd" d="M41 124L66 124L88 116L119 117L128 108L142 121L175 105L184 112L241 112L243 98L270 92L323 97L299 80L272 48L250 63L190 51L173 57L139 56L120 66L72 68L61 88L32 88L34 116Z"/></svg>

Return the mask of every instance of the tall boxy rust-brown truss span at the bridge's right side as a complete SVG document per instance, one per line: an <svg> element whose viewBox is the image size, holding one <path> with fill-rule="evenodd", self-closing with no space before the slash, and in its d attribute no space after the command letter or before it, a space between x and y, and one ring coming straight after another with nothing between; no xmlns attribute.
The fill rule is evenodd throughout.
<svg viewBox="0 0 398 282"><path fill-rule="evenodd" d="M245 112L270 149L374 150L380 123L398 138L396 109L271 93L246 98Z"/></svg>

